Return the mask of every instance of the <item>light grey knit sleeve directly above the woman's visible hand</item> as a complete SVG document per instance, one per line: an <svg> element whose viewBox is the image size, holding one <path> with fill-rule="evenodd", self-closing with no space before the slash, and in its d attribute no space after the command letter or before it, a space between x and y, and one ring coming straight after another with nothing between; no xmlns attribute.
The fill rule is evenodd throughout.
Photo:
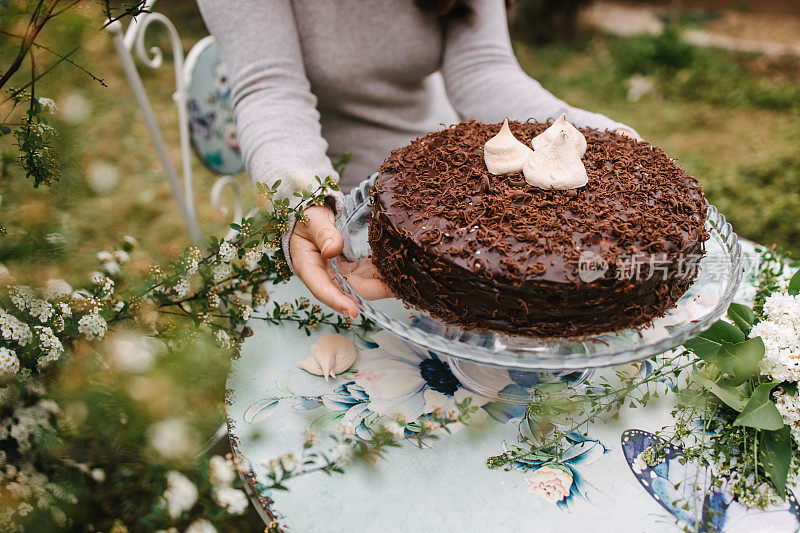
<svg viewBox="0 0 800 533"><path fill-rule="evenodd" d="M306 77L291 0L198 0L231 76L233 111L253 181L279 195L337 176ZM338 176L337 176L338 177Z"/></svg>

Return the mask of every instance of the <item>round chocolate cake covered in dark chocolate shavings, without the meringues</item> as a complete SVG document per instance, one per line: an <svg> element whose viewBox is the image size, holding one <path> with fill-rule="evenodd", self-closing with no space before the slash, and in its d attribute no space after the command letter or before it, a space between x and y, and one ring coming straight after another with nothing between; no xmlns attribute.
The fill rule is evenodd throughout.
<svg viewBox="0 0 800 533"><path fill-rule="evenodd" d="M540 337L641 326L674 306L708 238L697 180L647 142L580 128L588 183L533 187L487 170L500 127L462 122L381 166L369 242L392 291L451 324ZM525 141L547 127L510 123Z"/></svg>

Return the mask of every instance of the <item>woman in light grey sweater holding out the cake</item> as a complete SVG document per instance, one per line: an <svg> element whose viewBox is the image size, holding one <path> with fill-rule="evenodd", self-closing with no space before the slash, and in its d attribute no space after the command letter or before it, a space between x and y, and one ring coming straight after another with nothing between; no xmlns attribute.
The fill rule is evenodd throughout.
<svg viewBox="0 0 800 533"><path fill-rule="evenodd" d="M280 195L336 175L351 152L343 190L374 172L389 152L443 125L474 118L554 119L624 130L570 107L517 64L504 0L198 0L233 84L239 142L255 181L281 180ZM341 195L338 196L341 198ZM337 199L334 198L333 204ZM342 250L335 205L312 207L309 223L284 237L294 272L323 303L355 316L330 275ZM367 297L385 289L349 276Z"/></svg>

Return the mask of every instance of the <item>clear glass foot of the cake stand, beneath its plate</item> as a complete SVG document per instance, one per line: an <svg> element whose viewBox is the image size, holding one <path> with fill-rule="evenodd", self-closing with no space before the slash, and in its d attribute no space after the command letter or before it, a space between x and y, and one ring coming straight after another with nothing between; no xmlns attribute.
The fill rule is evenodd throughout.
<svg viewBox="0 0 800 533"><path fill-rule="evenodd" d="M568 385L576 387L594 374L586 370L517 370L472 363L447 357L450 371L462 385L492 401L511 404L528 404L537 396L537 389Z"/></svg>

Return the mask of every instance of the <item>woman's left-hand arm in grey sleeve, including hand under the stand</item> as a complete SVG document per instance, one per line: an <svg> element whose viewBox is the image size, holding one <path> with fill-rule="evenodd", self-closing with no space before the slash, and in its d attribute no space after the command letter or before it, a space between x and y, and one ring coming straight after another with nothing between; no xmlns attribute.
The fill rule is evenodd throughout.
<svg viewBox="0 0 800 533"><path fill-rule="evenodd" d="M280 179L278 197L313 189L315 176L338 177L326 154L317 99L306 77L290 0L198 0L206 26L231 76L239 146L253 181ZM333 195L341 205L341 193ZM336 209L338 211L338 208ZM355 304L328 272L328 259L342 251L342 236L325 207L294 218L283 237L286 259L311 292L335 310L354 316Z"/></svg>

